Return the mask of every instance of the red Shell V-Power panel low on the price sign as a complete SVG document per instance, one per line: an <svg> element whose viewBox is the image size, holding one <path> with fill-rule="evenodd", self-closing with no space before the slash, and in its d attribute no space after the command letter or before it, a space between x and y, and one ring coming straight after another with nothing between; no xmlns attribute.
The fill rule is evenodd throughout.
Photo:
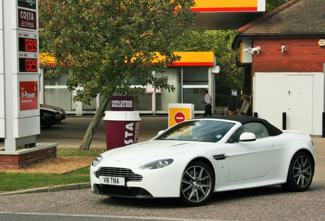
<svg viewBox="0 0 325 221"><path fill-rule="evenodd" d="M38 108L37 81L19 82L20 111L28 111Z"/></svg>

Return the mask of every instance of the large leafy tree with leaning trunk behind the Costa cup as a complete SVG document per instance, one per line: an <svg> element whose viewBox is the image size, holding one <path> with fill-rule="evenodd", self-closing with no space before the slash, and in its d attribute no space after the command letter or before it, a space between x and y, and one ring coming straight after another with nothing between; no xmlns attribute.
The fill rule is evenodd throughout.
<svg viewBox="0 0 325 221"><path fill-rule="evenodd" d="M42 51L57 64L48 76L69 73L67 87L76 92L76 101L103 97L80 149L89 149L113 93L142 93L130 88L131 78L173 91L167 77L153 77L152 71L179 59L170 46L194 23L193 5L193 0L39 1Z"/></svg>

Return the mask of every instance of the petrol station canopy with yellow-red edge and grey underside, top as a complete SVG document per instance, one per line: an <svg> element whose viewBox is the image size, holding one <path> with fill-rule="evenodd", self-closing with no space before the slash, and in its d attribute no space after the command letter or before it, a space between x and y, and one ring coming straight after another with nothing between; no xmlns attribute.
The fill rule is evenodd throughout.
<svg viewBox="0 0 325 221"><path fill-rule="evenodd" d="M265 12L265 0L195 0L190 30L239 29Z"/></svg>

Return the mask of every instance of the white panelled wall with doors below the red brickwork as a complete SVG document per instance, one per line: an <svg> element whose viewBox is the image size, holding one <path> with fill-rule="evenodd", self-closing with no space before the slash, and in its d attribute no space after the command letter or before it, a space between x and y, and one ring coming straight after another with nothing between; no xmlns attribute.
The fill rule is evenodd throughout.
<svg viewBox="0 0 325 221"><path fill-rule="evenodd" d="M280 129L287 113L288 130L322 135L323 92L323 73L254 73L253 112Z"/></svg>

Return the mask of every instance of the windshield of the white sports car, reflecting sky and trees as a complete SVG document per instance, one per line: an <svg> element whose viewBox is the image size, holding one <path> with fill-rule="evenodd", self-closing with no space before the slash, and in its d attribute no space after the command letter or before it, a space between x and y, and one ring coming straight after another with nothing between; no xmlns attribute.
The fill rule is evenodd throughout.
<svg viewBox="0 0 325 221"><path fill-rule="evenodd" d="M184 121L170 128L155 140L218 142L235 123L215 120Z"/></svg>

